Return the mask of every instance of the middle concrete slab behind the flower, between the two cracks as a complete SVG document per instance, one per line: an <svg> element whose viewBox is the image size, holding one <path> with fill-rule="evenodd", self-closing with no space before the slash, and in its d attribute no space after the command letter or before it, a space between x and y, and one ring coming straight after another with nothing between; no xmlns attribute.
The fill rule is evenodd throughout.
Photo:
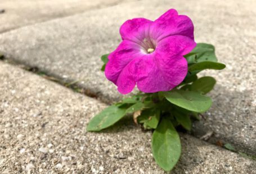
<svg viewBox="0 0 256 174"><path fill-rule="evenodd" d="M218 85L210 94L214 104L209 120L197 124L194 135L213 130L212 143L221 140L256 154L256 31L255 1L140 1L52 20L0 35L7 57L37 66L64 80L80 84L101 99L118 100L116 87L101 67L101 54L120 42L119 26L127 19L155 19L168 8L191 17L197 42L212 43L224 71L208 71ZM200 129L199 129L200 127Z"/></svg>

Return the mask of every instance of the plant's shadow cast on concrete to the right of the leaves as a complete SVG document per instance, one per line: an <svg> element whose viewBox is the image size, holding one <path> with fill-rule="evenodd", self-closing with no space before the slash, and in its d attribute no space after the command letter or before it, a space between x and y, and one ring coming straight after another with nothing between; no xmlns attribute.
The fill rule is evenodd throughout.
<svg viewBox="0 0 256 174"><path fill-rule="evenodd" d="M216 85L210 93L213 106L205 120L194 122L192 135L200 138L209 131L212 144L232 144L236 150L256 155L256 108L251 90L231 91Z"/></svg>

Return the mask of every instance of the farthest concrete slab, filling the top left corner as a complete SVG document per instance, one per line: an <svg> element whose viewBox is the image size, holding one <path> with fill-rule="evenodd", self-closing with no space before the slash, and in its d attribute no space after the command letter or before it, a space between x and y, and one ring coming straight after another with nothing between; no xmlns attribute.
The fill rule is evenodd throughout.
<svg viewBox="0 0 256 174"><path fill-rule="evenodd" d="M119 0L8 0L0 1L0 33L38 22L69 16L75 13L113 6Z"/></svg>

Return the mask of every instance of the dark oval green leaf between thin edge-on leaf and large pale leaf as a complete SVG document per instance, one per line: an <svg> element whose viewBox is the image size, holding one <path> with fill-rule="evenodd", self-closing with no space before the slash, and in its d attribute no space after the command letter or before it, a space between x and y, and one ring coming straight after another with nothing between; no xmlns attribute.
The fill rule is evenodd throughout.
<svg viewBox="0 0 256 174"><path fill-rule="evenodd" d="M191 90L201 91L203 94L209 93L213 89L216 80L213 77L205 76L192 83Z"/></svg>

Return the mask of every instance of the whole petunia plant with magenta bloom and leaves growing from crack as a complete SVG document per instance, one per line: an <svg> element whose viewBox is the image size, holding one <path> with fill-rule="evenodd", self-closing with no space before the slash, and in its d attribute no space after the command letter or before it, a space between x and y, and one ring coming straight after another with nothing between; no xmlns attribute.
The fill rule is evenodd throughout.
<svg viewBox="0 0 256 174"><path fill-rule="evenodd" d="M101 57L106 78L122 94L134 87L140 92L105 108L87 126L101 131L125 115L152 134L152 153L156 163L170 171L181 155L177 126L191 130L191 118L199 118L212 105L205 94L213 89L213 77L197 77L206 69L222 70L214 47L195 43L194 25L174 9L155 21L136 18L120 28L122 42L110 54Z"/></svg>

